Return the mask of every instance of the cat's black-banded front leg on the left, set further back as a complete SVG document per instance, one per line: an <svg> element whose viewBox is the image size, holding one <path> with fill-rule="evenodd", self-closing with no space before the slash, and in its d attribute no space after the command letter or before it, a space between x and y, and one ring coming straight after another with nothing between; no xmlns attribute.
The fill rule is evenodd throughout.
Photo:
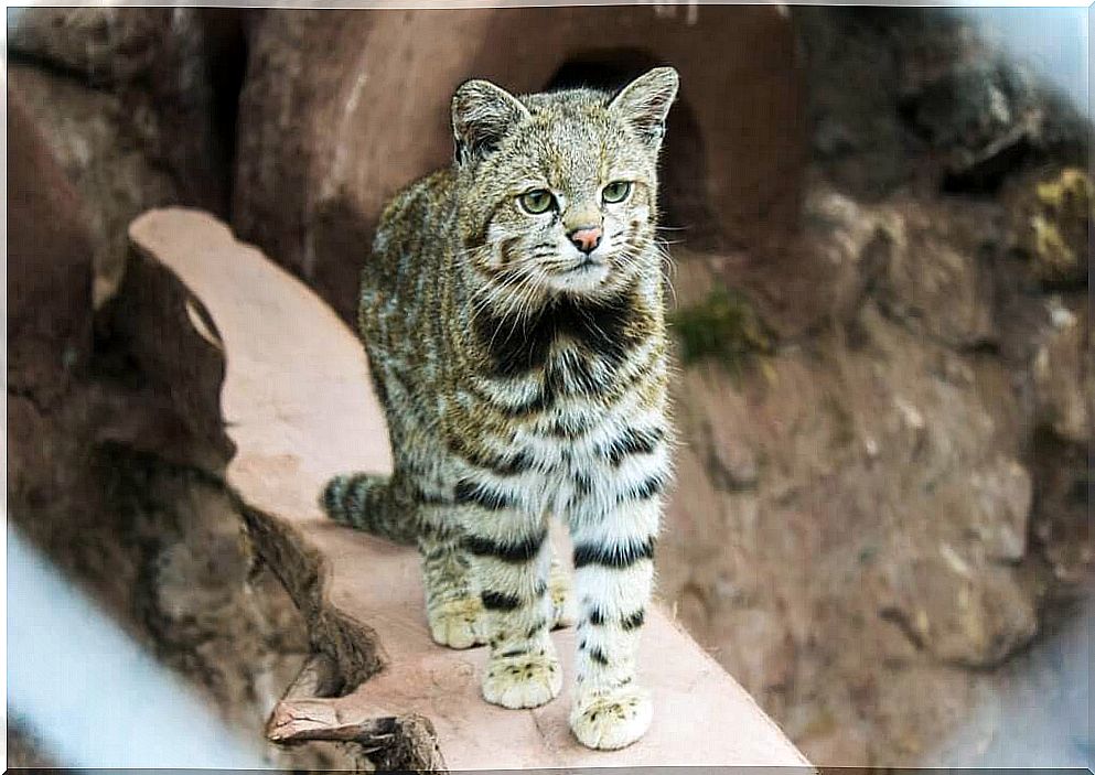
<svg viewBox="0 0 1095 775"><path fill-rule="evenodd" d="M506 506L490 491L466 488L463 500L480 500L465 512L464 547L486 616L490 657L483 697L504 708L537 708L562 688L548 636L554 610L546 519Z"/></svg>

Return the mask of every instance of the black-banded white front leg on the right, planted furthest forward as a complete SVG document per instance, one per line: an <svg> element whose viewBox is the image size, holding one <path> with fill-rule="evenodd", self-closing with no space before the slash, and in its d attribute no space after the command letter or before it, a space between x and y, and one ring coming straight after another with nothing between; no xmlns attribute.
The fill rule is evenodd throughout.
<svg viewBox="0 0 1095 775"><path fill-rule="evenodd" d="M661 477L651 480L658 483ZM636 682L638 636L654 582L661 497L652 487L610 493L570 517L578 602L578 675L570 726L592 749L638 740L653 718Z"/></svg>

